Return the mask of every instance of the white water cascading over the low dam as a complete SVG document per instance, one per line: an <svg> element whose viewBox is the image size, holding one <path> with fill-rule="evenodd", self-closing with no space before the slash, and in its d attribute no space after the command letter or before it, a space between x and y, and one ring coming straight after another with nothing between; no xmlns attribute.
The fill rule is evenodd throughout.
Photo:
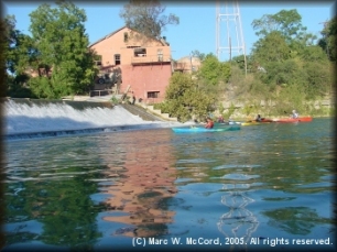
<svg viewBox="0 0 337 252"><path fill-rule="evenodd" d="M118 129L165 127L149 122L110 103L9 99L3 102L7 139L93 133Z"/></svg>

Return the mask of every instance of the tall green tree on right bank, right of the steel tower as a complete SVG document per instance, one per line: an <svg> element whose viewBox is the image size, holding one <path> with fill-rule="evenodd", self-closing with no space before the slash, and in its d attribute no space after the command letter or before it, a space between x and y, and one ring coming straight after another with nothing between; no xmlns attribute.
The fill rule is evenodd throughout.
<svg viewBox="0 0 337 252"><path fill-rule="evenodd" d="M315 36L301 24L296 10L265 14L252 25L260 35L253 45L252 58L257 67L265 69L258 70L256 76L271 90L301 90L308 99L329 90L327 56L314 45Z"/></svg>

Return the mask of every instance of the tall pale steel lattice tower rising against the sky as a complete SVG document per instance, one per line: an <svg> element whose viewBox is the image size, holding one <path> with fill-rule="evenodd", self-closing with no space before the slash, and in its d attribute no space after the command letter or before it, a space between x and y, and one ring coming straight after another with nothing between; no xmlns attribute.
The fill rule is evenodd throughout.
<svg viewBox="0 0 337 252"><path fill-rule="evenodd" d="M243 32L240 19L238 1L216 2L216 54L220 61L222 52L229 53L231 61L232 53L244 56L244 70L247 74L247 59ZM221 25L224 24L224 25Z"/></svg>

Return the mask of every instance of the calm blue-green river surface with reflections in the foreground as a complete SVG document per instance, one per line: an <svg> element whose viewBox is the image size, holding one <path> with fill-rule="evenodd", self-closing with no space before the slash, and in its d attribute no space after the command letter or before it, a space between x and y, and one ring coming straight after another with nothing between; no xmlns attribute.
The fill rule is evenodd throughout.
<svg viewBox="0 0 337 252"><path fill-rule="evenodd" d="M334 138L314 119L9 141L3 251L334 250Z"/></svg>

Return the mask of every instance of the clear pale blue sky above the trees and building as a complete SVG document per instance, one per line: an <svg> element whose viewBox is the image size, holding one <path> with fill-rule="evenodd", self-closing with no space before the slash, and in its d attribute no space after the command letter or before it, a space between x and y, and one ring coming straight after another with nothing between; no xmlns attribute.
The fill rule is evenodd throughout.
<svg viewBox="0 0 337 252"><path fill-rule="evenodd" d="M53 3L52 1L46 1ZM226 20L216 21L217 4L216 1L161 1L165 9L165 14L173 13L180 18L178 25L167 25L162 35L166 36L166 41L171 45L171 54L173 59L180 59L189 56L193 51L204 54L213 53L217 55L217 48L220 46L225 50L219 54L220 61L229 59L229 42L231 37L231 56L242 54L243 51L235 50L235 47L246 48L246 54L250 54L253 44L259 40L252 29L252 21L261 19L264 14L275 14L281 10L296 9L302 17L302 25L307 28L307 32L320 37L320 31L324 23L331 19L336 13L334 1L274 1L258 2L257 1L239 1L240 22L233 21L231 15L228 22L230 30L226 30ZM30 17L29 14L36 10L42 3L39 2L15 2L2 1L4 6L4 14L13 14L17 19L17 29L24 34L30 34ZM94 43L105 35L122 28L123 20L119 17L120 11L127 1L79 1L74 3L84 9L87 14L85 23L89 42ZM220 14L225 14L225 1L220 2ZM229 14L235 13L233 1L227 3ZM238 44L235 40L237 36L235 25L240 31L242 28L243 45ZM217 24L220 25L218 35L220 41L217 45ZM239 33L240 34L240 33ZM240 40L241 41L241 40ZM226 50L227 48L227 50Z"/></svg>

